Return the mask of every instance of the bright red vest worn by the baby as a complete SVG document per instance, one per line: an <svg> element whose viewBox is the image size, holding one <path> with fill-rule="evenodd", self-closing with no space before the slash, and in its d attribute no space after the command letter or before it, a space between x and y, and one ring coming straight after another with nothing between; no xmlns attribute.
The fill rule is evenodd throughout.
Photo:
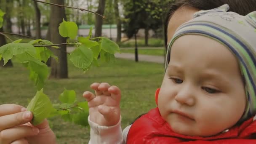
<svg viewBox="0 0 256 144"><path fill-rule="evenodd" d="M174 133L155 108L133 123L127 144L256 144L256 120L251 118L211 137L184 136Z"/></svg>

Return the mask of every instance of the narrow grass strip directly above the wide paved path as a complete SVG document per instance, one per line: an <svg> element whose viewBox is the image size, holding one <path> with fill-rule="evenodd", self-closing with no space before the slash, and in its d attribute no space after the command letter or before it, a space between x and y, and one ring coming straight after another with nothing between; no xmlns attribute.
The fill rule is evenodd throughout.
<svg viewBox="0 0 256 144"><path fill-rule="evenodd" d="M122 53L134 53L134 49L121 49ZM164 48L157 48L157 49L147 49L147 48L138 48L139 54L147 54L147 55L153 55L153 56L164 56L165 49Z"/></svg>

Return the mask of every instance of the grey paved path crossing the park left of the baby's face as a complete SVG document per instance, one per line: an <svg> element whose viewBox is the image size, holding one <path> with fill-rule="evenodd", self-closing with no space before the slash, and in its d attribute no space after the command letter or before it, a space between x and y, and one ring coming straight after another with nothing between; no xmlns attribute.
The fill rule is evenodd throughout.
<svg viewBox="0 0 256 144"><path fill-rule="evenodd" d="M70 53L73 50L74 48L67 47L67 52ZM120 59L131 59L135 61L134 53L116 53L115 57ZM163 64L165 61L164 56L152 56L152 55L139 54L138 58L139 58L139 61L155 62L159 64Z"/></svg>

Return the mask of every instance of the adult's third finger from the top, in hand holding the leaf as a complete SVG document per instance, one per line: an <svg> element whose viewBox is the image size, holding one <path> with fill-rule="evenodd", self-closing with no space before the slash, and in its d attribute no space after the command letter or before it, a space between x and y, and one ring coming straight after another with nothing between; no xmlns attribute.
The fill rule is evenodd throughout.
<svg viewBox="0 0 256 144"><path fill-rule="evenodd" d="M14 128L5 129L0 132L0 143L10 144L12 141L23 139L29 136L35 136L39 133L39 129L27 125L21 125Z"/></svg>

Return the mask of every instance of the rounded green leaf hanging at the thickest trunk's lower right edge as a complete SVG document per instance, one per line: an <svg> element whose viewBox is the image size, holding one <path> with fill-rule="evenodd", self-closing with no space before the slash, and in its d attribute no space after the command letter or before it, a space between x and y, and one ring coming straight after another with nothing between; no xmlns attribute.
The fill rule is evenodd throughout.
<svg viewBox="0 0 256 144"><path fill-rule="evenodd" d="M93 61L93 51L85 45L80 45L70 53L70 61L80 69L87 70Z"/></svg>

